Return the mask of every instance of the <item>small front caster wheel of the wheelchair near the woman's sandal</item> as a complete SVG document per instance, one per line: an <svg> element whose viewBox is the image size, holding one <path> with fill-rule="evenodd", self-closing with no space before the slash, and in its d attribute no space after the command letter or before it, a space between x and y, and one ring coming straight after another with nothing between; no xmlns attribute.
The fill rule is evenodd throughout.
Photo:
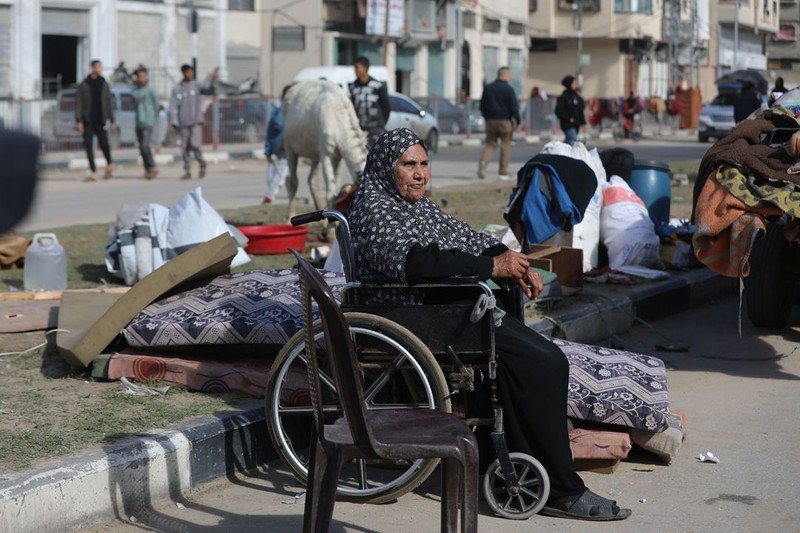
<svg viewBox="0 0 800 533"><path fill-rule="evenodd" d="M538 513L550 495L550 478L542 463L526 453L509 454L519 479L519 492L509 490L500 460L493 462L483 477L483 496L496 514L511 520L525 520Z"/></svg>

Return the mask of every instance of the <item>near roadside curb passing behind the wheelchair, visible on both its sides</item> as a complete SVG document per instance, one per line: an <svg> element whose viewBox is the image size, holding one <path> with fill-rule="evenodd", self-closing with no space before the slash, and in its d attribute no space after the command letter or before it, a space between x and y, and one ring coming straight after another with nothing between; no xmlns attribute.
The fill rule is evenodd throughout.
<svg viewBox="0 0 800 533"><path fill-rule="evenodd" d="M633 286L586 285L552 311L537 311L529 326L569 340L602 343L634 320L653 320L722 295L729 279L706 269L673 273ZM177 500L202 484L274 460L263 400L242 411L195 419L123 443L62 458L0 480L0 531L74 530Z"/></svg>

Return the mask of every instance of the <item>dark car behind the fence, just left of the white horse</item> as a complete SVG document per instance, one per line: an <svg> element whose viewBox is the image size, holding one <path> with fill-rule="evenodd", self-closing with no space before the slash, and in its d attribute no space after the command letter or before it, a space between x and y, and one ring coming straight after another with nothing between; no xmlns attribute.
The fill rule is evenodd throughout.
<svg viewBox="0 0 800 533"><path fill-rule="evenodd" d="M215 111L215 108L217 111ZM219 142L263 142L269 121L269 102L257 94L219 98L205 110L203 142L214 141L214 113L219 116Z"/></svg>

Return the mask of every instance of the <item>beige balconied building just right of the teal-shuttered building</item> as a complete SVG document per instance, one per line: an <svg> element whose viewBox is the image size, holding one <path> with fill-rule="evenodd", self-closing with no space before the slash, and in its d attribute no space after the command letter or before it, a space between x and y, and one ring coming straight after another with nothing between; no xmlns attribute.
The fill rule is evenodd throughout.
<svg viewBox="0 0 800 533"><path fill-rule="evenodd" d="M683 74L671 72L678 49L669 45L675 17L669 0L529 0L531 52L528 80L560 92L567 74L578 77L585 96L617 97L629 91L666 97ZM579 9L582 8L582 9ZM673 61L670 61L670 58Z"/></svg>

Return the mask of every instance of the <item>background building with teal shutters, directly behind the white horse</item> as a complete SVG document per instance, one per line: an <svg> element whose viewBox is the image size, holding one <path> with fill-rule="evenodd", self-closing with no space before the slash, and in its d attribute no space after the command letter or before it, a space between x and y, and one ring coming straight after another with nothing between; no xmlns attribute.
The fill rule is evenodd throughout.
<svg viewBox="0 0 800 533"><path fill-rule="evenodd" d="M392 18L380 19L387 1ZM260 79L271 94L277 94L303 67L351 65L358 56L385 64L395 74L395 88L411 96L478 98L484 82L493 80L503 65L511 67L518 92L524 84L525 0L298 0L286 4L260 2L265 37ZM376 6L379 20L371 12ZM271 38L278 29L283 37ZM296 42L296 49L281 40L302 32L305 42ZM389 38L385 40L383 33Z"/></svg>

